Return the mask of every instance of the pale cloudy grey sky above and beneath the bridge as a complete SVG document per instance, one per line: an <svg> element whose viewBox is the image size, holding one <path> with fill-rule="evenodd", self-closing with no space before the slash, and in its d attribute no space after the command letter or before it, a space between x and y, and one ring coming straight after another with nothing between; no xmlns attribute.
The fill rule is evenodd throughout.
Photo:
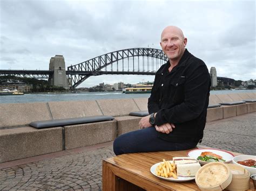
<svg viewBox="0 0 256 191"><path fill-rule="evenodd" d="M0 0L0 69L48 70L63 55L66 68L126 48L160 47L168 25L180 27L186 48L210 72L256 79L255 1ZM153 81L152 75L100 75L99 83Z"/></svg>

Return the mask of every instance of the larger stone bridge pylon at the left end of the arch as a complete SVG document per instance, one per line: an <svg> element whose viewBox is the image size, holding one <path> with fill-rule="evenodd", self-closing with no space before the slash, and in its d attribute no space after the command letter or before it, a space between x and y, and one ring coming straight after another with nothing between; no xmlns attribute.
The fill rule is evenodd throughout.
<svg viewBox="0 0 256 191"><path fill-rule="evenodd" d="M60 86L69 89L63 55L55 55L55 57L50 59L49 70L53 71L53 73L49 75L49 81L52 86Z"/></svg>

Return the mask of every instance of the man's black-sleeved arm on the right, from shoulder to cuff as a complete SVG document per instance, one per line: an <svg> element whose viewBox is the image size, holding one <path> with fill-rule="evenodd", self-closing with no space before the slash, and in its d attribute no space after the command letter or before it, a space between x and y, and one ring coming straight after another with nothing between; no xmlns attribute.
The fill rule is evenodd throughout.
<svg viewBox="0 0 256 191"><path fill-rule="evenodd" d="M200 65L184 84L184 102L173 108L160 109L156 115L156 125L184 123L197 118L205 107L209 83L208 69Z"/></svg>

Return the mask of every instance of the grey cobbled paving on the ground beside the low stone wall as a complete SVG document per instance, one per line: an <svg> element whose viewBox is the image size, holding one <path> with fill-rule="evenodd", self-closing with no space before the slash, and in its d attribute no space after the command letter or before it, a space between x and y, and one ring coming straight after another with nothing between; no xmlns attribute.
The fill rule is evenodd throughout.
<svg viewBox="0 0 256 191"><path fill-rule="evenodd" d="M206 124L201 145L256 155L256 113ZM0 164L0 190L101 190L112 142Z"/></svg>

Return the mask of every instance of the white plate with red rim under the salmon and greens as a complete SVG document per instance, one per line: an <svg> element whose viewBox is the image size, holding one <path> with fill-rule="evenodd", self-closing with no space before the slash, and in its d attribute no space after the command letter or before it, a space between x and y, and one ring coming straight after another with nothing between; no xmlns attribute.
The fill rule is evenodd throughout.
<svg viewBox="0 0 256 191"><path fill-rule="evenodd" d="M187 156L188 157L192 157L194 159L197 159L200 154L202 152L212 152L214 154L218 154L220 155L225 161L225 163L229 163L232 161L232 159L234 158L234 154L232 154L231 152L228 152L228 151L224 151L224 150L219 150L219 149L216 149L216 148L208 148L208 149L202 149L202 148L198 148L198 149L195 149L195 150L192 150L192 151L189 151L187 153ZM205 164L208 164L210 162L206 162L206 161L201 161L201 160L197 160L201 165L205 165Z"/></svg>

